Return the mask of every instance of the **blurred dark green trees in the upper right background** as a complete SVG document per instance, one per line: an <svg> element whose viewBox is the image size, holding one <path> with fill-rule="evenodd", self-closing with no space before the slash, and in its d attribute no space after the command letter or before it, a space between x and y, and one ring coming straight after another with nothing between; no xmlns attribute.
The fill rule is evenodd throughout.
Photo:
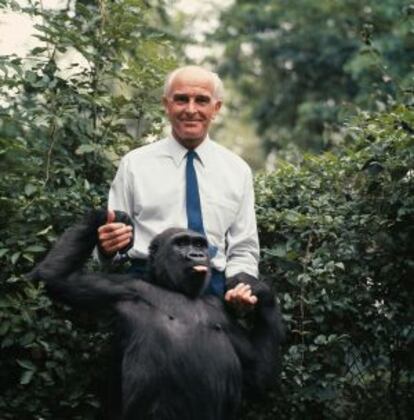
<svg viewBox="0 0 414 420"><path fill-rule="evenodd" d="M236 0L213 38L266 152L342 144L350 114L412 89L413 14L409 0Z"/></svg>

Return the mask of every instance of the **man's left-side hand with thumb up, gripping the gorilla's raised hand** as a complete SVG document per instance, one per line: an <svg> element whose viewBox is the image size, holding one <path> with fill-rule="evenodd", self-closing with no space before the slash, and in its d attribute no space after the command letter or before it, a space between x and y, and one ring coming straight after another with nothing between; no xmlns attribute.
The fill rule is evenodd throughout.
<svg viewBox="0 0 414 420"><path fill-rule="evenodd" d="M108 210L105 225L98 229L98 242L100 251L111 257L125 248L132 240L132 226L125 223L115 223L115 212Z"/></svg>

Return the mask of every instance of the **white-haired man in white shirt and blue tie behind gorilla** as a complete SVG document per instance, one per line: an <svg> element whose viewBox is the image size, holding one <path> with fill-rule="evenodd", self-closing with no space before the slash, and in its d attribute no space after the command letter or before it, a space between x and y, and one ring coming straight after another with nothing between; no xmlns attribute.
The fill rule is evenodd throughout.
<svg viewBox="0 0 414 420"><path fill-rule="evenodd" d="M250 284L257 279L259 258L252 175L241 158L209 138L222 97L215 73L197 66L173 71L163 97L171 134L122 159L109 208L123 210L133 220L136 234L129 257L137 272L145 269L148 245L157 233L188 227L205 234L210 244L208 292L249 307L257 302ZM98 231L100 251L108 258L132 237L132 228L114 219L109 211L108 223Z"/></svg>

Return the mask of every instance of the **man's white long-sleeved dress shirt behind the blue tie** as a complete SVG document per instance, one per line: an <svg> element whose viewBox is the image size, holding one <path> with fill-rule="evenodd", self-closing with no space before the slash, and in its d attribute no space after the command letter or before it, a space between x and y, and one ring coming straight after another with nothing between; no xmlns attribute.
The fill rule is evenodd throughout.
<svg viewBox="0 0 414 420"><path fill-rule="evenodd" d="M108 207L128 213L134 223L131 258L148 255L155 235L187 228L185 166L187 149L172 136L132 150L121 160ZM252 174L237 155L208 137L194 160L207 240L218 248L212 265L227 277L258 276L259 241Z"/></svg>

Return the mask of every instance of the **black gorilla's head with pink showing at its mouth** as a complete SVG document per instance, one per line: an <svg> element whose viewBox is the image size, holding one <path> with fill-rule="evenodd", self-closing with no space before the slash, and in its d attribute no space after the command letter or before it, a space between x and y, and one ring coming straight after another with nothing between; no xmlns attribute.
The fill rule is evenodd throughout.
<svg viewBox="0 0 414 420"><path fill-rule="evenodd" d="M199 296L210 278L208 243L204 236L185 229L168 229L150 245L150 275L161 287Z"/></svg>

